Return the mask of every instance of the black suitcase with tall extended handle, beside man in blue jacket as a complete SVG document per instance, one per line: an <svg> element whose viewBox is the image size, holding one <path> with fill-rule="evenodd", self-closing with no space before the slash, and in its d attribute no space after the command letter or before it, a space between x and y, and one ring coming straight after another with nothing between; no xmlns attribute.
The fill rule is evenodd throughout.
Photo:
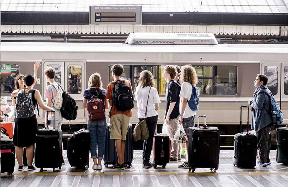
<svg viewBox="0 0 288 187"><path fill-rule="evenodd" d="M240 106L240 131L242 130L242 108L247 108L247 132L234 136L234 162L233 165L243 168L256 166L257 137L249 132L249 106Z"/></svg>

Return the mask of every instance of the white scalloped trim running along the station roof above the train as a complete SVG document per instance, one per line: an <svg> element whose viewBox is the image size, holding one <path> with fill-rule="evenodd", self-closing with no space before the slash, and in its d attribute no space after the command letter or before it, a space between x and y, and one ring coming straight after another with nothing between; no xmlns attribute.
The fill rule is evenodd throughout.
<svg viewBox="0 0 288 187"><path fill-rule="evenodd" d="M215 35L288 36L288 26L236 25L1 25L1 33L129 34L132 32L212 33Z"/></svg>

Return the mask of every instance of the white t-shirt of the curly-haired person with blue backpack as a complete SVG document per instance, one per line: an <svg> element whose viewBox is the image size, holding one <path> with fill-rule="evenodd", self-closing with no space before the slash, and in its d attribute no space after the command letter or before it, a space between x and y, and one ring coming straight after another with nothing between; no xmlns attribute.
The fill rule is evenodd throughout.
<svg viewBox="0 0 288 187"><path fill-rule="evenodd" d="M181 98L186 98L187 100L190 100L191 98L191 94L192 94L192 85L190 83L184 82L181 84L181 90L180 90L180 97ZM180 114L181 114L181 108L182 108L182 102L180 101ZM191 110L191 108L189 107L188 103L186 104L186 108L184 110L183 113L183 118L188 118L191 116L195 116L196 112Z"/></svg>

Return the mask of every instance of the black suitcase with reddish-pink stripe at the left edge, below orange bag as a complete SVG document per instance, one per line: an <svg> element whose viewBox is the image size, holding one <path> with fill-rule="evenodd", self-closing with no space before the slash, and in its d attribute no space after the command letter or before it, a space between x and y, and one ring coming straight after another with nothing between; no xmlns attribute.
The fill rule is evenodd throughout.
<svg viewBox="0 0 288 187"><path fill-rule="evenodd" d="M2 141L1 151L1 173L7 172L7 175L14 176L15 167L15 146L10 141Z"/></svg>

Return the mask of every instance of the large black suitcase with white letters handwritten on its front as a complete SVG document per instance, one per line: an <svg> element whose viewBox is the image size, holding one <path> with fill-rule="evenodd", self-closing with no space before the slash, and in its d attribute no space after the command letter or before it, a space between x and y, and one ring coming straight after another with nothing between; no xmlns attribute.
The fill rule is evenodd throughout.
<svg viewBox="0 0 288 187"><path fill-rule="evenodd" d="M204 126L199 127L199 117L204 117ZM198 127L189 127L189 171L196 168L210 168L216 172L219 167L220 133L217 127L206 125L206 116L199 115Z"/></svg>

